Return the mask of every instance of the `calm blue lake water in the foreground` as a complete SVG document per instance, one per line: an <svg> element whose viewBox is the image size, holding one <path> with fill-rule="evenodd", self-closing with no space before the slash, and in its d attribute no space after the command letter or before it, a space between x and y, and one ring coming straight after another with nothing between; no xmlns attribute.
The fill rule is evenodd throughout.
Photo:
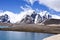
<svg viewBox="0 0 60 40"><path fill-rule="evenodd" d="M0 40L42 40L53 34L0 31Z"/></svg>

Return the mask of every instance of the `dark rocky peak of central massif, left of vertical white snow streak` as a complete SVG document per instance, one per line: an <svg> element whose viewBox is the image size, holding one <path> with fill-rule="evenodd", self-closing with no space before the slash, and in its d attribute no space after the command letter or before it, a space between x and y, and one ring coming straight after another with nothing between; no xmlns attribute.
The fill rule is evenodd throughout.
<svg viewBox="0 0 60 40"><path fill-rule="evenodd" d="M25 18L23 18L20 23L34 23L35 21L35 17L36 17L37 13L35 13L35 11L33 11L30 15L25 15Z"/></svg>

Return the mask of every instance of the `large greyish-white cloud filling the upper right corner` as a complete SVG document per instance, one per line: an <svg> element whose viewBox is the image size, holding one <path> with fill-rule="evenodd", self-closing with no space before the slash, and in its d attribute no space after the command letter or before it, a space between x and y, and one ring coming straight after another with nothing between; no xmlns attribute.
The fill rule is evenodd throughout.
<svg viewBox="0 0 60 40"><path fill-rule="evenodd" d="M39 3L60 12L60 0L39 0Z"/></svg>

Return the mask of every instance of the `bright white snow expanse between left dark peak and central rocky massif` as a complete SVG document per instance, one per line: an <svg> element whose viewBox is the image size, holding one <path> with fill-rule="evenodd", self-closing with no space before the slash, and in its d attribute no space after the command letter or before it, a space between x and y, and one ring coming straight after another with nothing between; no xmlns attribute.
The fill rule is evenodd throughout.
<svg viewBox="0 0 60 40"><path fill-rule="evenodd" d="M25 18L25 15L31 15L31 13L34 10L27 10L27 11L23 11L21 13L15 14L13 12L10 11L4 11L4 12L0 12L0 16L7 14L9 16L9 20L11 23L16 23L18 21L21 21L23 18Z"/></svg>

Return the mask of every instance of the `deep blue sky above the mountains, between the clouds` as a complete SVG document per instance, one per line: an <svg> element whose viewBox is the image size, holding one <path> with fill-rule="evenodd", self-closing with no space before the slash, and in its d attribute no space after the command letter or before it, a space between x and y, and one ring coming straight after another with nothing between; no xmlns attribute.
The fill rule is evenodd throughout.
<svg viewBox="0 0 60 40"><path fill-rule="evenodd" d="M40 4L38 1L34 1L33 4L31 2L26 0L0 0L0 10L3 11L11 11L14 13L19 13L23 11L21 7L27 8L28 5L33 10L38 9L39 11L48 11L51 14L57 14L60 15L60 11L56 11L56 8L50 8L47 5ZM36 10L37 11L37 10Z"/></svg>

